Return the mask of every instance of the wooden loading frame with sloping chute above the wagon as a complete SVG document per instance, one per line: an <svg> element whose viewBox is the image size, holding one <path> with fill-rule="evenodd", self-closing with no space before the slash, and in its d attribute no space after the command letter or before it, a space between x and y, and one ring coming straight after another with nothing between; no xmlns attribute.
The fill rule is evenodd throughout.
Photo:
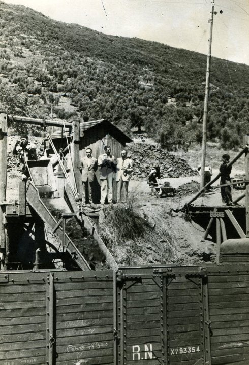
<svg viewBox="0 0 249 365"><path fill-rule="evenodd" d="M68 184L65 187L66 197L67 197L67 204L69 206L69 212L65 212L63 215L63 219L57 222L54 217L49 212L48 208L42 202L40 195L39 195L39 186L38 188L35 186L33 179L32 181L28 181L26 184L21 183L19 184L19 203L18 208L14 205L9 204L6 202L6 188L7 188L7 121L12 120L17 123L29 123L40 125L43 128L47 126L59 126L59 127L67 127L72 132L72 142L70 144L71 147L71 156L72 156L72 169L69 173ZM34 118L26 118L26 117L19 117L19 116L8 116L5 112L0 112L0 260L2 261L1 270L3 270L3 262L7 265L5 266L8 268L8 254L10 253L10 239L9 239L9 232L8 225L13 224L13 222L21 222L21 224L25 221L34 223L35 230L39 230L40 226L43 227L44 230L44 223L47 223L48 226L52 229L52 232L59 238L61 241L63 252L55 252L53 255L59 258L63 257L64 253L69 254L71 259L77 264L78 268L81 270L90 270L89 264L86 262L82 254L79 252L77 247L74 243L70 240L70 238L66 234L66 218L75 216L77 221L80 224L83 224L88 233L94 236L94 239L99 244L99 247L103 254L106 257L107 262L110 264L111 268L117 268L117 264L113 259L111 253L103 243L102 239L98 234L98 214L91 214L91 212L82 209L80 202L76 202L76 194L75 191L70 190L70 186L75 186L75 190L79 191L80 187L80 172L79 172L79 121L75 120L72 123L67 122L60 122L60 121L53 121L53 120L42 120L42 119L34 119ZM43 160L41 160L43 161ZM30 162L30 161L27 161ZM34 161L33 161L34 162ZM38 161L39 162L39 161ZM46 161L45 161L46 162ZM31 168L33 164L27 164L29 171L31 172ZM46 163L42 164L43 167L46 167ZM36 168L36 166L35 166ZM32 178L32 174L30 174ZM76 199L77 200L77 199ZM79 209L80 207L80 209ZM90 219L93 219L94 222L91 222ZM18 220L17 220L18 219ZM28 223L28 224L29 224ZM61 227L61 223L63 226ZM26 229L26 228L25 228ZM42 228L41 228L42 229ZM33 231L35 232L33 229ZM46 248L46 241L44 238L44 234L39 237L36 234L38 241L42 245L41 241L43 241L43 247L39 246L36 247L37 249L40 248L41 251L44 251ZM42 239L43 237L43 239ZM48 242L47 242L48 244ZM44 246L45 245L45 246ZM11 253L10 253L11 256ZM40 254L36 252L36 259L34 258L34 268L39 267L39 260ZM45 257L46 258L46 257ZM70 258L70 257L69 257ZM0 261L0 262L1 262Z"/></svg>

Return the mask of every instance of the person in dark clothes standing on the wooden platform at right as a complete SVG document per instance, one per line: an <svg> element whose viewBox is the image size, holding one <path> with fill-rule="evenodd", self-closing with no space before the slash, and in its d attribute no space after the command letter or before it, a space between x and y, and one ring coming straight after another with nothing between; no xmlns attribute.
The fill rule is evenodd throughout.
<svg viewBox="0 0 249 365"><path fill-rule="evenodd" d="M230 167L227 166L229 164L229 160L230 160L230 156L227 153L225 153L222 156L223 163L220 166L221 185L231 183L230 174L231 174L231 171L232 171L232 166L230 166ZM230 185L221 187L221 195L222 195L222 202L223 203L226 203L227 205L232 205L233 204L232 189L231 189Z"/></svg>

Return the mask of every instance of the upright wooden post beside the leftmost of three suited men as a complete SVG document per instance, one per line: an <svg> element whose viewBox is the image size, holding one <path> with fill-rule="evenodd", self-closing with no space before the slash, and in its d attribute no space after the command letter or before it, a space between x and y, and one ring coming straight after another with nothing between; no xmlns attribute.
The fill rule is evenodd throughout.
<svg viewBox="0 0 249 365"><path fill-rule="evenodd" d="M71 183L73 186L76 185L76 189L79 192L80 190L80 172L79 172L79 164L80 164L80 122L79 120L75 120L72 123L73 125L73 141L71 144L71 156L72 156L72 171L70 172Z"/></svg>

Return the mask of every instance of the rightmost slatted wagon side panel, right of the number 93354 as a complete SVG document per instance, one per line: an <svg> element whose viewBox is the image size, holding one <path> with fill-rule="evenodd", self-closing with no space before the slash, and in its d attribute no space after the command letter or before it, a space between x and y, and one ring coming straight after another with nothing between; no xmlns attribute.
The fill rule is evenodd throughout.
<svg viewBox="0 0 249 365"><path fill-rule="evenodd" d="M249 274L240 267L209 276L212 365L249 363Z"/></svg>

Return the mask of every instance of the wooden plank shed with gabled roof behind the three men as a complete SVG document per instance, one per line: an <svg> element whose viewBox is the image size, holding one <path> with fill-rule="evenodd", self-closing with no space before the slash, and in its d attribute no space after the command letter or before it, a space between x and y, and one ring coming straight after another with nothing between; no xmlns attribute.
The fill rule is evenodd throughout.
<svg viewBox="0 0 249 365"><path fill-rule="evenodd" d="M57 151L65 149L71 141L69 128L60 128L51 134L54 146ZM92 156L98 159L98 156L104 153L106 145L111 146L111 154L117 158L120 157L121 150L126 147L126 143L132 142L132 139L118 129L107 119L94 120L80 123L80 141L79 154L80 159L85 156L86 148L92 149ZM70 165L70 161L69 161ZM61 177L61 176L60 176ZM99 201L100 180L99 172L96 173L96 189L94 201ZM61 181L59 182L61 187ZM59 189L58 189L59 190ZM116 186L113 187L113 198L115 200Z"/></svg>

